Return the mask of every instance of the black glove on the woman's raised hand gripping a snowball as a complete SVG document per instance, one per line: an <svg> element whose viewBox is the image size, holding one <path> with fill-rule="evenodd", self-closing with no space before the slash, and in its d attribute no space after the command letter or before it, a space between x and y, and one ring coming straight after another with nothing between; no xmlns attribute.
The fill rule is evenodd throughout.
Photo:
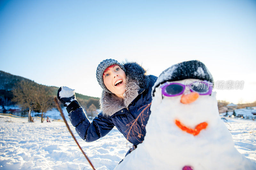
<svg viewBox="0 0 256 170"><path fill-rule="evenodd" d="M76 110L77 108L80 107L80 104L78 103L78 101L76 100L76 94L74 94L71 97L63 97L60 98L60 91L61 91L61 87L59 88L58 92L57 92L57 98L60 100L60 102L67 107L67 111L68 113L70 113L71 111ZM70 103L67 105L67 103Z"/></svg>

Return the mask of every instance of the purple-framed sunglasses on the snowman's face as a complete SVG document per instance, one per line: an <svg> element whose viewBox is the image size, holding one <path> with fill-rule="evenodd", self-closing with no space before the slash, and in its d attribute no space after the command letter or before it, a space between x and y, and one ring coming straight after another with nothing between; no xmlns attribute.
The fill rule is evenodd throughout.
<svg viewBox="0 0 256 170"><path fill-rule="evenodd" d="M180 83L164 83L160 87L162 88L162 94L168 97L178 96L182 94L185 88L189 87L191 92L197 92L199 95L211 95L212 83L206 80L195 81L189 85L183 85Z"/></svg>

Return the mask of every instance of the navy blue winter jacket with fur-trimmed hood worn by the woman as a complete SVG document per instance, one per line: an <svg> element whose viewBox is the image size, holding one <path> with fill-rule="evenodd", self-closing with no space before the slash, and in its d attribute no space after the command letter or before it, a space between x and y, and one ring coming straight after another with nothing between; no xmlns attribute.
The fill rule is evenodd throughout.
<svg viewBox="0 0 256 170"><path fill-rule="evenodd" d="M137 63L126 63L124 67L127 80L123 100L113 93L103 91L100 99L102 112L92 122L89 121L82 107L68 114L70 122L76 127L76 132L86 142L104 137L114 126L127 138L131 122L135 121L143 108L151 102L151 89L157 77L145 75L146 71ZM144 140L149 115L148 108L140 116L142 119L137 119L130 130L128 137L130 143L137 145Z"/></svg>

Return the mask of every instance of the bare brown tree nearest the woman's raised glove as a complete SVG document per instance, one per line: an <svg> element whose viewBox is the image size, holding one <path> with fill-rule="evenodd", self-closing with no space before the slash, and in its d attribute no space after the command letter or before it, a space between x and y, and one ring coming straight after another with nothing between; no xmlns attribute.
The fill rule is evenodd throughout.
<svg viewBox="0 0 256 170"><path fill-rule="evenodd" d="M41 112L41 122L44 122L45 113L50 110L53 105L52 91L49 87L43 85L36 86L35 92L36 107Z"/></svg>

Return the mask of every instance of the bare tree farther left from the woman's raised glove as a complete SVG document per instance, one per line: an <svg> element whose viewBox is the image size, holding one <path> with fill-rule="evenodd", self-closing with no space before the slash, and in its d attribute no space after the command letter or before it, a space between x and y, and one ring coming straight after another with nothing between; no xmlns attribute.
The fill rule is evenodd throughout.
<svg viewBox="0 0 256 170"><path fill-rule="evenodd" d="M28 122L33 122L30 114L35 102L35 86L36 84L34 82L21 80L20 82L16 83L12 89L12 101L16 102L22 108L28 108Z"/></svg>

